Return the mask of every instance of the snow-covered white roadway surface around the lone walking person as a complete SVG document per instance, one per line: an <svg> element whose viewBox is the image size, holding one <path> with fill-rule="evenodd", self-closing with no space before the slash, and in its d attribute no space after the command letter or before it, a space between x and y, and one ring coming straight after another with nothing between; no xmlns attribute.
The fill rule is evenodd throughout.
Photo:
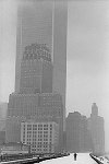
<svg viewBox="0 0 109 164"><path fill-rule="evenodd" d="M77 153L76 161L74 155L58 157L40 162L40 164L97 164L95 160L89 156L89 153Z"/></svg>

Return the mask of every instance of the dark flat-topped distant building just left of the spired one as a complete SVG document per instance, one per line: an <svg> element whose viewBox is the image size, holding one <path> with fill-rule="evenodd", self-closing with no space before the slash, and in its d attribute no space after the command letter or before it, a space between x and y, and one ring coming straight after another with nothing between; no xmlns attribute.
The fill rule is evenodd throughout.
<svg viewBox="0 0 109 164"><path fill-rule="evenodd" d="M70 113L66 118L66 150L82 152L92 149L87 118L78 112Z"/></svg>

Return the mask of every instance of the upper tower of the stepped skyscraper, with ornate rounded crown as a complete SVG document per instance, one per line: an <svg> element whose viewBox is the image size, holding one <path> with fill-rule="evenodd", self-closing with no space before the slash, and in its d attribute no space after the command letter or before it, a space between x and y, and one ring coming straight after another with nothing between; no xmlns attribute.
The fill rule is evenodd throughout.
<svg viewBox="0 0 109 164"><path fill-rule="evenodd" d="M44 44L25 47L21 61L20 93L51 93L52 62L49 48Z"/></svg>

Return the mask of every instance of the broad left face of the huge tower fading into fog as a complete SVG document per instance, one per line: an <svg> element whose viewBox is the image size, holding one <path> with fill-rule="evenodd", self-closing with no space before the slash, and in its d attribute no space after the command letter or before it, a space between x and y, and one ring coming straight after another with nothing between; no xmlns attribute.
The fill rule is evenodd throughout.
<svg viewBox="0 0 109 164"><path fill-rule="evenodd" d="M25 47L33 44L52 44L52 3L21 2L17 8L15 92L20 92L21 60Z"/></svg>

